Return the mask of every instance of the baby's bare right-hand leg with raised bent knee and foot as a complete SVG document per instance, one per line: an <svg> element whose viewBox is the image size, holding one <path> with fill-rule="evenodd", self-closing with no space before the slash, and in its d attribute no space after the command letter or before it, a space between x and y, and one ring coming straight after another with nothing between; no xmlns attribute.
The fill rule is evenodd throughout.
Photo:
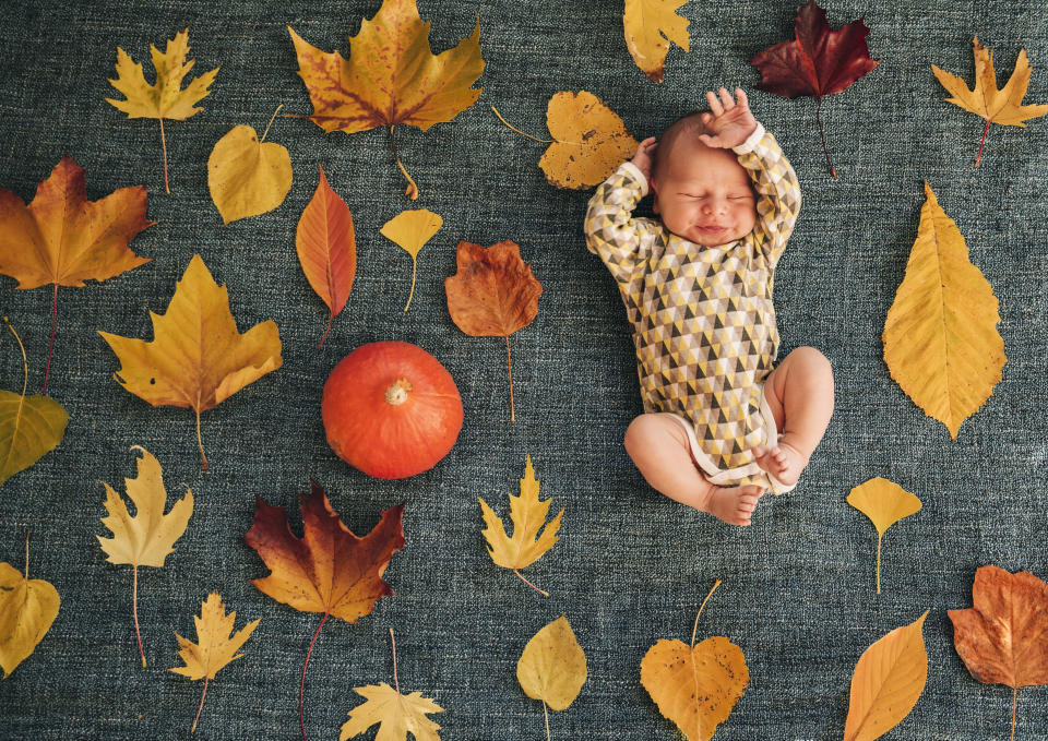
<svg viewBox="0 0 1048 741"><path fill-rule="evenodd" d="M764 382L777 444L753 449L758 465L783 483L797 482L833 415L833 368L813 347L798 347Z"/></svg>

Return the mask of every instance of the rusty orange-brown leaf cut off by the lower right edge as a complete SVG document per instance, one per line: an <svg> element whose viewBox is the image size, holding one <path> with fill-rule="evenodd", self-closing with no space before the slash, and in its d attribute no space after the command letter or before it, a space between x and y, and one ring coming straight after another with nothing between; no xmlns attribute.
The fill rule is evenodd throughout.
<svg viewBox="0 0 1048 741"><path fill-rule="evenodd" d="M1026 571L979 566L972 607L948 610L953 645L984 684L1012 688L1012 738L1021 686L1048 684L1048 584Z"/></svg>

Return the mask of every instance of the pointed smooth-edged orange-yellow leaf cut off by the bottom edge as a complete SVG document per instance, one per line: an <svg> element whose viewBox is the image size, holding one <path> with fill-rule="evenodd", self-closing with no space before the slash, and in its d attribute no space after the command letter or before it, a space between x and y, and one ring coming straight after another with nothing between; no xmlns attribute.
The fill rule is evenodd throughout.
<svg viewBox="0 0 1048 741"><path fill-rule="evenodd" d="M909 625L896 628L859 657L851 674L844 741L873 741L909 715L928 680L925 650L926 610Z"/></svg>

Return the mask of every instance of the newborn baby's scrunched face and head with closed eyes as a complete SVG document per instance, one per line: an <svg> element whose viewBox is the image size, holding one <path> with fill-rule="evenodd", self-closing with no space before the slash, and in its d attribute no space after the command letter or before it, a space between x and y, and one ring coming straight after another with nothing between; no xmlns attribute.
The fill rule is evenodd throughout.
<svg viewBox="0 0 1048 741"><path fill-rule="evenodd" d="M666 228L696 244L726 244L757 224L750 177L730 150L678 141L651 186Z"/></svg>

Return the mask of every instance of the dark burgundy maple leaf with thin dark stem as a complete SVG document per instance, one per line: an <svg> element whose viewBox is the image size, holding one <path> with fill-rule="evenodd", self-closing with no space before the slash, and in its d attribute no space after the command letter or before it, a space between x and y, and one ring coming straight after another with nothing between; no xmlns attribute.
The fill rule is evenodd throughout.
<svg viewBox="0 0 1048 741"><path fill-rule="evenodd" d="M881 63L880 59L870 58L866 46L869 33L862 19L832 31L826 23L826 12L815 0L808 0L808 4L797 8L795 40L776 44L750 59L761 73L757 86L762 91L784 98L807 95L818 100L819 135L833 177L837 177L837 171L830 159L822 129L822 98L846 91Z"/></svg>

